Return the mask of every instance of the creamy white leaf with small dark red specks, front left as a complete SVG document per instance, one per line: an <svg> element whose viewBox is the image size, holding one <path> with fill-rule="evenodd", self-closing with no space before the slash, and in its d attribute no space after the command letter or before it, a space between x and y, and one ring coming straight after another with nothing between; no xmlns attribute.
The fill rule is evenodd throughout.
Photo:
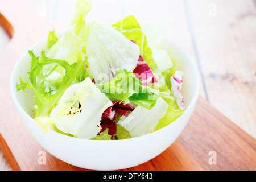
<svg viewBox="0 0 256 182"><path fill-rule="evenodd" d="M110 106L109 98L96 88L90 78L85 78L65 90L49 117L39 117L37 121L43 131L48 131L55 124L64 133L90 139L100 132L102 113Z"/></svg>

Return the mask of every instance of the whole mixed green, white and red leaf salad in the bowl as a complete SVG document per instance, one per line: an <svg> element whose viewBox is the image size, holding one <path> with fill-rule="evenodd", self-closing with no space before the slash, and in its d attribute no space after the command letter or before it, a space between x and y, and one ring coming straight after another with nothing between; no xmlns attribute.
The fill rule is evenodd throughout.
<svg viewBox="0 0 256 182"><path fill-rule="evenodd" d="M184 113L183 72L160 48L164 22L139 25L127 16L112 25L86 22L92 7L78 0L64 32L49 32L40 56L33 50L27 81L31 108L43 132L92 140L119 140L162 129Z"/></svg>

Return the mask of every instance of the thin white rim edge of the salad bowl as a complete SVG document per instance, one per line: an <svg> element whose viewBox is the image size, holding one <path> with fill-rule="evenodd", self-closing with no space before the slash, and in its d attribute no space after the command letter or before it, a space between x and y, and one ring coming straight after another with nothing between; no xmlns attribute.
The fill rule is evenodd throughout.
<svg viewBox="0 0 256 182"><path fill-rule="evenodd" d="M67 30L64 30L64 31L60 31L60 32L57 32L56 33L56 36L61 38L63 35L64 35L64 32L67 31ZM23 107L19 104L18 102L18 98L15 94L15 89L14 88L14 84L15 84L15 81L14 81L14 75L15 75L15 71L18 69L18 65L20 63L23 62L23 57L27 55L27 52L28 50L32 50L33 48L35 48L36 46L38 46L39 44L42 44L43 42L45 42L47 40L47 38L44 38L42 40L40 40L39 42L35 43L34 45L32 45L30 48L27 49L26 52L23 53L22 56L19 57L18 61L15 63L14 65L14 68L13 68L13 71L11 72L11 77L10 77L10 92L11 92L11 97L13 98L13 101L15 103L15 106L17 107L16 109L22 111L22 114L26 115L26 117L32 119L34 122L35 119L32 118L24 109ZM162 130L165 130L167 129L167 127L171 127L172 125L175 125L175 123L179 122L181 119L183 119L185 117L185 115L189 112L192 112L193 109L194 109L194 106L196 105L196 102L197 102L197 99L199 97L199 92L200 92L200 74L199 74L199 69L197 68L196 66L196 63L195 61L192 59L191 55L189 55L189 53L187 51L185 51L185 49L183 47L181 47L179 44L177 44L176 42L174 42L174 40L171 40L169 38L164 38L163 39L164 41L168 41L168 42L171 42L172 44L174 44L178 49L181 50L181 52L183 52L183 54L188 57L188 60L189 62L191 62L191 64L193 65L193 69L195 70L195 78L196 78L196 85L194 85L196 87L196 90L195 90L195 95L193 96L192 100L191 100L191 103L189 104L189 106L186 108L186 110L184 111L184 113L182 115L180 115L179 118L175 119L175 121L171 122L170 124L168 124L167 126L164 126L162 129L159 129L159 130L156 130L156 131L153 131L149 134L145 134L145 135L141 135L139 137L133 137L133 138L127 138L127 139L120 139L120 140L90 140L90 139L82 139L82 138L76 138L76 137L70 137L70 136L67 136L67 135L64 135L64 134L61 134L61 133L57 133L56 131L48 131L48 133L54 133L56 135L59 135L60 137L67 137L67 139L74 139L74 140L81 140L83 142L98 142L98 143L109 143L109 142L125 142L125 141L130 141L130 140L138 140L139 138L145 138L145 137L148 137L148 135L157 135L158 133L161 133ZM18 92L18 91L16 91ZM20 116L19 116L20 117ZM186 123L187 125L187 123Z"/></svg>

